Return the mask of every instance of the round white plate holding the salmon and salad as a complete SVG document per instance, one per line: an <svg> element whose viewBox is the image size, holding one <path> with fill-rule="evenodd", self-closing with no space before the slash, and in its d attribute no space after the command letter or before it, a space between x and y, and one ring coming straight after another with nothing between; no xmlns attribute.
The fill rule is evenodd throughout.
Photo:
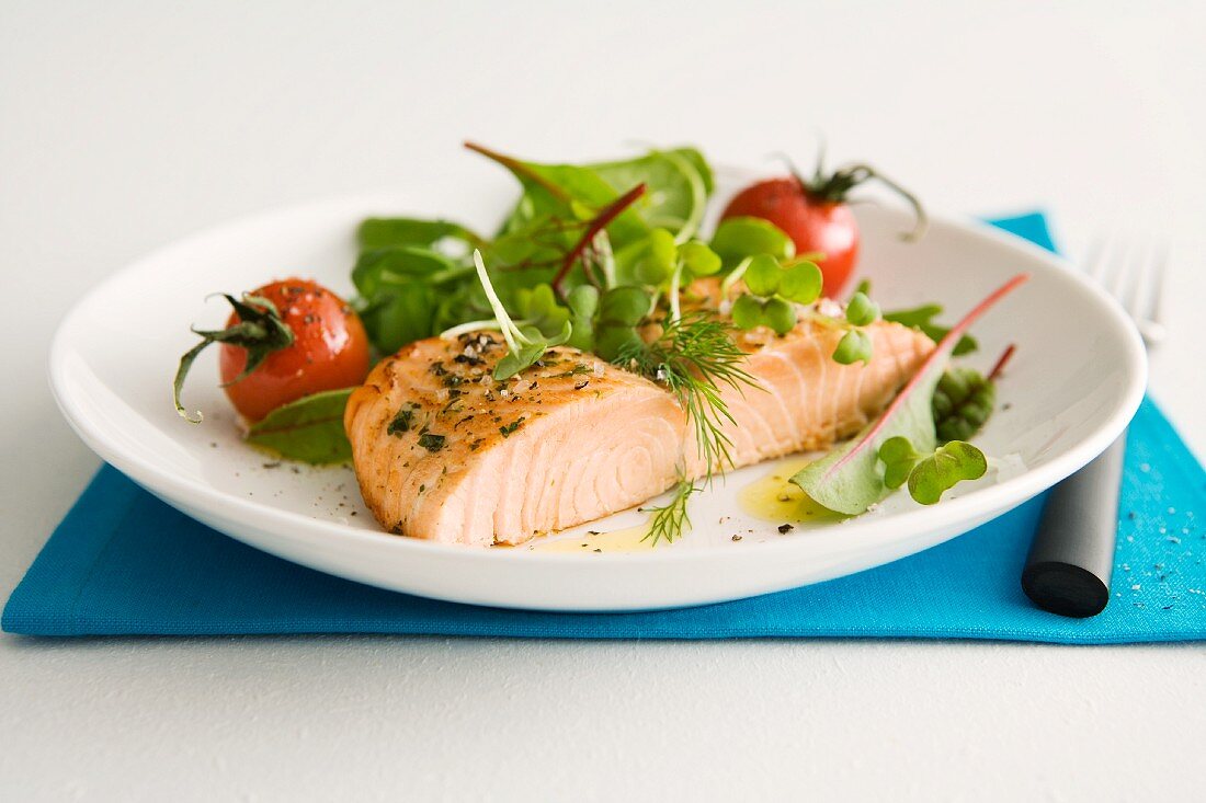
<svg viewBox="0 0 1206 803"><path fill-rule="evenodd" d="M907 216L860 207L860 276L873 281L884 309L938 301L953 322L1009 276L1032 274L974 328L982 348L970 362L980 368L1007 344L1018 346L999 391L1007 409L976 439L995 465L931 508L896 493L872 514L780 535L780 522L753 517L737 502L742 487L774 471L769 463L693 498L696 527L672 546L602 553L447 546L381 532L350 468L274 467L240 444L216 387L215 350L198 361L185 394L191 409L206 412L205 423L177 417L170 380L195 342L188 324L217 328L226 317L206 295L288 275L347 293L362 218L444 213L488 230L509 200L412 187L258 215L166 247L92 291L62 323L51 354L58 404L98 455L160 499L288 561L438 599L605 611L780 591L931 547L1084 465L1123 432L1142 398L1146 362L1134 327L1059 259L988 225L949 219L936 221L921 242L902 244L896 233ZM591 543L587 529L643 520L628 511L566 538Z"/></svg>

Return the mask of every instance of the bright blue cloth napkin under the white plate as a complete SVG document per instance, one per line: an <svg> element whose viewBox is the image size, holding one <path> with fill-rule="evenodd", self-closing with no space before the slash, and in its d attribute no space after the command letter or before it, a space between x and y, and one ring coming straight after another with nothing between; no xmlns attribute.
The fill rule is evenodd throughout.
<svg viewBox="0 0 1206 803"><path fill-rule="evenodd" d="M995 223L1054 250L1041 215ZM1021 593L1042 503L896 563L794 591L673 611L541 614L434 602L302 568L206 528L105 467L13 592L2 626L31 635L1206 638L1206 473L1154 403L1144 400L1131 423L1113 597L1094 619L1047 614Z"/></svg>

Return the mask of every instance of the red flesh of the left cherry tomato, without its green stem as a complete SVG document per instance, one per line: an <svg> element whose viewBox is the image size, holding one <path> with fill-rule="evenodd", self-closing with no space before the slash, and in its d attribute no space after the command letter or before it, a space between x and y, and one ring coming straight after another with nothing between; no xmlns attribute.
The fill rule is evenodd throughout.
<svg viewBox="0 0 1206 803"><path fill-rule="evenodd" d="M240 414L259 421L304 395L364 381L369 370L368 335L359 316L341 298L302 279L273 282L248 295L273 303L293 332L293 342L273 351L242 379L239 375L247 367L248 351L222 344L222 383ZM236 323L239 313L233 312L227 328Z"/></svg>

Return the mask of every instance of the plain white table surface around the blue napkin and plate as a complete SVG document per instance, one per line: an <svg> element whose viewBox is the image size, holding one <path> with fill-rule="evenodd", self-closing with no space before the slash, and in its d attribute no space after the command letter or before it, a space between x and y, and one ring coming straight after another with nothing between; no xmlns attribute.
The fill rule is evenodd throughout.
<svg viewBox="0 0 1206 803"><path fill-rule="evenodd" d="M824 130L935 209L1044 206L1073 256L1167 236L1152 388L1206 453L1201 6L315 5L0 2L0 598L98 465L45 379L75 299L244 212L500 181L466 137L806 162ZM13 801L1172 801L1204 731L1200 645L0 637Z"/></svg>

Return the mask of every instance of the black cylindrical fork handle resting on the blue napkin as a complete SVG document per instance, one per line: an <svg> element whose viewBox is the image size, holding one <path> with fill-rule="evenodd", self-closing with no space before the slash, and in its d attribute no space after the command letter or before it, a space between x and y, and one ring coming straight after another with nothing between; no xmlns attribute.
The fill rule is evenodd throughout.
<svg viewBox="0 0 1206 803"><path fill-rule="evenodd" d="M1021 590L1043 610L1096 616L1110 602L1125 445L1123 433L1047 499L1021 572Z"/></svg>

